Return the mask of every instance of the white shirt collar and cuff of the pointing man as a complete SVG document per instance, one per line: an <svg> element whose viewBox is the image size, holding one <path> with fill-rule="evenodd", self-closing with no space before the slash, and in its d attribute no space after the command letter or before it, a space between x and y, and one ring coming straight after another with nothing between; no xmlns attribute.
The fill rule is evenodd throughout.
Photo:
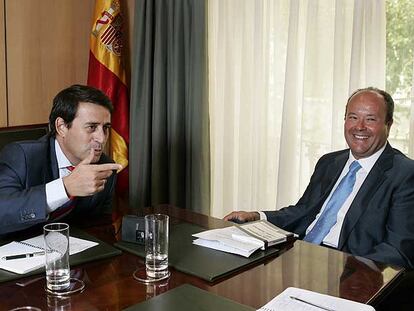
<svg viewBox="0 0 414 311"><path fill-rule="evenodd" d="M68 158L65 156L56 139L55 152L59 168L59 178L46 184L46 202L48 206L48 213L53 212L58 207L62 206L63 204L69 201L69 197L66 193L66 189L63 184L62 178L70 174L70 171L67 167L72 166L72 163L70 163Z"/></svg>

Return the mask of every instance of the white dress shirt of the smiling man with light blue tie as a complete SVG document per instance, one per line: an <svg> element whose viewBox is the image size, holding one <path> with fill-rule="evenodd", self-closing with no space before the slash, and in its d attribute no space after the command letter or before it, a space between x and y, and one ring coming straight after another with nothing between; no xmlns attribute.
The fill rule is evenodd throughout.
<svg viewBox="0 0 414 311"><path fill-rule="evenodd" d="M361 169L356 174L356 181L354 184L354 188L352 189L351 194L348 196L348 198L345 200L344 204L338 211L338 215L336 218L335 225L331 228L329 233L325 236L323 239L323 244L337 248L338 242L339 242L339 235L341 234L342 225L344 223L344 219L346 216L346 213L348 212L349 208L351 207L352 202L354 201L355 196L357 195L359 189L361 188L362 184L365 181L365 178L368 176L369 172L371 171L372 167L374 166L375 162L377 162L378 158L382 154L382 152L385 150L386 144L377 152L369 156L368 158L359 159L358 162L361 165ZM325 200L325 202L322 205L321 210L319 211L318 215L316 215L315 220L309 225L309 227L306 229L306 234L315 226L316 222L318 221L320 215L325 210L326 204L329 202L329 199L331 198L332 194L334 193L335 189L338 187L339 182L344 178L344 176L349 171L349 166L353 161L356 159L352 155L352 152L349 151L349 158L346 162L341 175L339 176L338 180L336 181L334 187L331 190L331 193ZM266 219L266 215L263 212L259 212L260 219Z"/></svg>

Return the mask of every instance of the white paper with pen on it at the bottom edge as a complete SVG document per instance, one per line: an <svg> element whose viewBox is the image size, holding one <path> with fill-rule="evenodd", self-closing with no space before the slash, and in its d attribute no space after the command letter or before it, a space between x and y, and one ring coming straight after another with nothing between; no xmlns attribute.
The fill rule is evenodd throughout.
<svg viewBox="0 0 414 311"><path fill-rule="evenodd" d="M288 287L258 311L375 311L366 304L319 294L313 291Z"/></svg>

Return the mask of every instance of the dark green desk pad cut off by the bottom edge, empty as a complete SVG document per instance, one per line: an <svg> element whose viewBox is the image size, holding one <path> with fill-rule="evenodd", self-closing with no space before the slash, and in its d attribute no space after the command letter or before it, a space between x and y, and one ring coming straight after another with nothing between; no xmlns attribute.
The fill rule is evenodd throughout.
<svg viewBox="0 0 414 311"><path fill-rule="evenodd" d="M255 309L234 302L230 299L217 296L197 287L184 284L155 296L147 301L133 305L124 311L253 311Z"/></svg>

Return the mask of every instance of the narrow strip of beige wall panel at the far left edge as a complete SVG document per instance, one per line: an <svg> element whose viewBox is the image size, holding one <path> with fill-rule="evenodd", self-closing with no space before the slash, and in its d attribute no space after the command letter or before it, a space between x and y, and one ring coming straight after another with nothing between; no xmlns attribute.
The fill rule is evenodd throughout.
<svg viewBox="0 0 414 311"><path fill-rule="evenodd" d="M4 0L0 1L0 127L7 126Z"/></svg>

